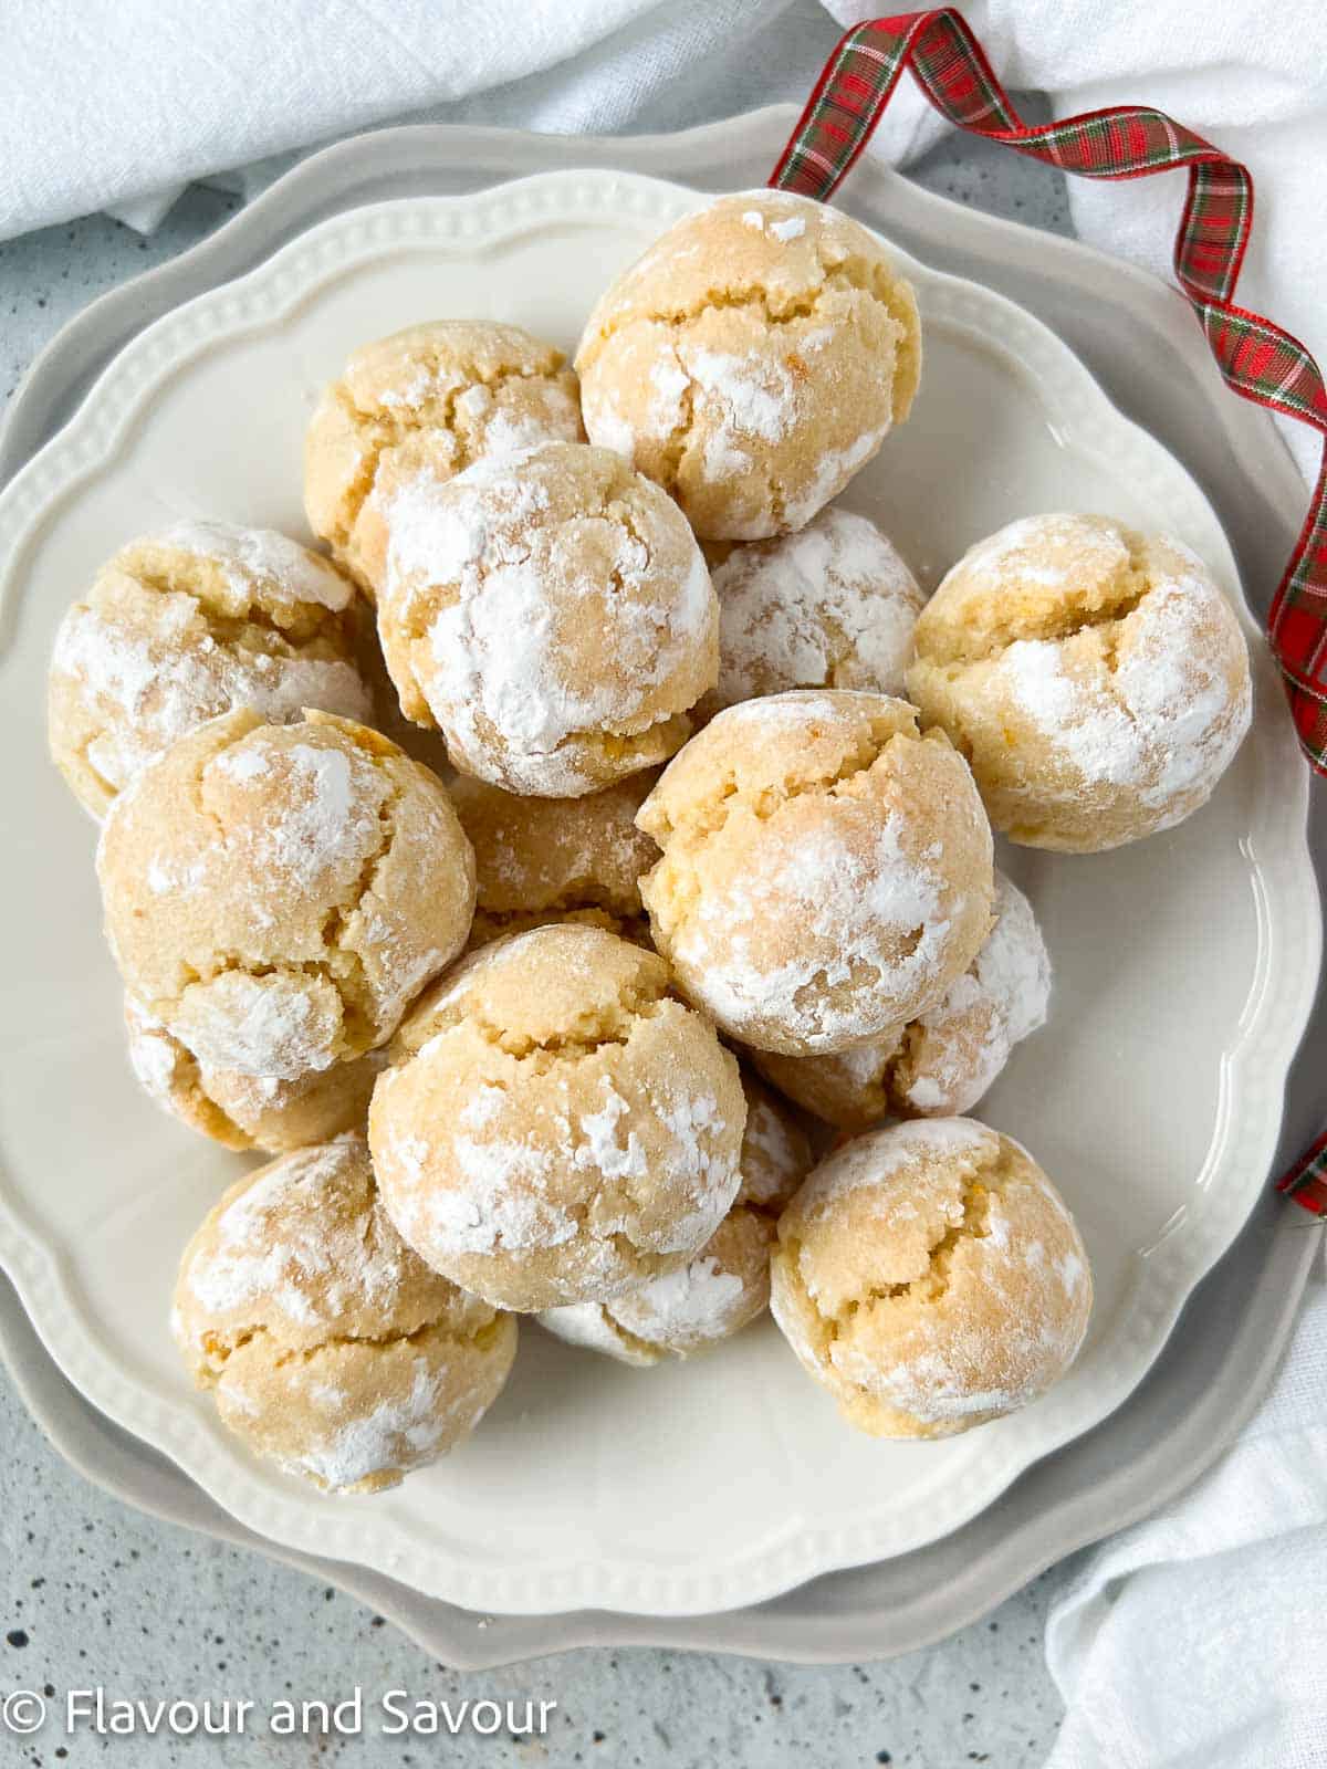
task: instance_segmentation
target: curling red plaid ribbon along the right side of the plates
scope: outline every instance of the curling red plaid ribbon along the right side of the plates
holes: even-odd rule
[[[1327,775],[1327,391],[1304,345],[1272,320],[1235,306],[1253,226],[1253,179],[1193,129],[1143,104],[1065,117],[1030,129],[954,7],[855,25],[825,64],[770,184],[828,202],[871,140],[899,76],[911,69],[927,99],[959,129],[1003,142],[1085,179],[1147,179],[1189,170],[1175,239],[1175,276],[1207,334],[1226,386],[1323,435],[1309,513],[1272,598],[1267,637],[1304,752]],[[1277,1191],[1327,1215],[1327,1132]]]

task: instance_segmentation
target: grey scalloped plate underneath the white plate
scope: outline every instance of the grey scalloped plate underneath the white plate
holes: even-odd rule
[[[12,472],[58,428],[88,379],[145,320],[251,267],[310,221],[382,196],[476,188],[568,161],[658,172],[702,188],[752,184],[791,120],[791,110],[766,111],[687,136],[605,143],[402,129],[333,149],[219,235],[104,297],[65,329],[14,402],[0,472]],[[458,165],[464,173],[449,170]],[[1040,313],[1116,403],[1203,479],[1254,601],[1260,586],[1270,587],[1299,520],[1302,486],[1262,414],[1223,393],[1177,297],[1081,246],[954,209],[871,166],[856,175],[848,207],[931,264],[986,281]],[[1292,1129],[1308,1127],[1292,1114]],[[603,1613],[481,1622],[373,1574],[287,1558],[334,1578],[433,1652],[464,1665],[584,1642],[649,1640],[787,1658],[906,1650],[961,1626],[1040,1566],[1193,1479],[1272,1367],[1313,1244],[1311,1235],[1293,1233],[1299,1226],[1269,1199],[1191,1302],[1154,1375],[1109,1426],[1040,1463],[971,1525],[918,1553],[819,1580],[754,1610],[678,1622]],[[0,1311],[0,1332],[34,1412],[71,1459],[145,1509],[272,1551],[175,1468],[106,1426],[48,1364],[12,1297]]]

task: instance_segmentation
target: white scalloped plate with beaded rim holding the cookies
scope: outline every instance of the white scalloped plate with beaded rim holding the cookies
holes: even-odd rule
[[[356,343],[479,313],[570,347],[607,278],[695,202],[559,172],[331,219],[127,345],[0,495],[0,1258],[69,1378],[242,1523],[476,1610],[748,1604],[945,1535],[1104,1419],[1265,1182],[1318,969],[1308,771],[1210,506],[1040,322],[899,255],[927,331],[922,394],[846,502],[927,582],[1032,509],[1164,525],[1214,564],[1253,640],[1254,729],[1203,812],[1115,854],[1005,856],[1058,985],[1051,1028],[984,1116],[1033,1148],[1083,1226],[1097,1309],[1076,1369],[1014,1419],[897,1445],[842,1428],[768,1323],[649,1373],[527,1329],[478,1436],[373,1500],[324,1498],[219,1428],[166,1311],[184,1240],[242,1162],[159,1116],[129,1077],[94,830],[44,754],[51,635],[96,564],[166,517],[304,532],[303,426]]]

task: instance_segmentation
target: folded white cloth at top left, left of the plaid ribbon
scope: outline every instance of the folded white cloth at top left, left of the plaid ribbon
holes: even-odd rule
[[[800,97],[833,37],[816,0],[5,0],[0,239],[150,228],[191,179],[384,120],[687,127]]]

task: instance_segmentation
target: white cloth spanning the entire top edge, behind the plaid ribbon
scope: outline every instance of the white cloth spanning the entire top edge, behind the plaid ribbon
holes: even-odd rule
[[[839,25],[886,11],[828,0]],[[1244,304],[1327,357],[1322,0],[966,0],[964,14],[1005,83],[1049,92],[1056,115],[1147,99],[1247,161]],[[5,0],[0,239],[96,209],[150,228],[191,179],[407,115],[685,127],[805,96],[832,41],[814,0]],[[941,127],[904,81],[874,150],[904,161]],[[1078,232],[1164,276],[1184,182],[1070,180]],[[1283,428],[1316,474],[1309,433]]]

